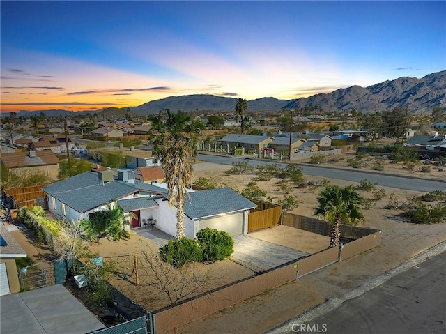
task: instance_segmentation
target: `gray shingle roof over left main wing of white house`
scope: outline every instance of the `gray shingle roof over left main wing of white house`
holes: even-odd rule
[[[98,173],[95,172],[72,176],[47,185],[42,190],[80,213],[137,192],[133,185],[118,181],[100,185]]]

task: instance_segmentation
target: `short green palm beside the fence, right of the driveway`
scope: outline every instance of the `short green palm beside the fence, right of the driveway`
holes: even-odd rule
[[[360,212],[360,195],[353,185],[340,188],[338,185],[328,185],[318,196],[318,206],[314,215],[323,216],[332,225],[329,248],[339,245],[341,223],[356,225],[364,220]]]

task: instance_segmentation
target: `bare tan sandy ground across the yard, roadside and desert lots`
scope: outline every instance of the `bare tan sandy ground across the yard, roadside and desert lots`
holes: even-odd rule
[[[343,165],[342,162],[337,164]],[[393,167],[387,167],[385,172],[401,174],[401,170],[392,171]],[[194,168],[194,180],[203,176],[218,185],[227,185],[233,189],[242,190],[255,177],[252,174],[226,176],[224,171],[228,168],[229,166],[214,165],[208,162],[197,163]],[[408,172],[408,174],[413,174],[413,172]],[[442,171],[436,169],[429,175],[421,172],[419,174],[424,177],[444,177]],[[323,179],[313,176],[305,177],[306,181],[321,181]],[[257,183],[260,188],[268,192],[267,196],[270,196],[273,202],[286,195],[285,192],[278,189],[275,184],[277,181],[279,179]],[[351,184],[348,181],[328,181],[330,181],[330,184],[337,185]],[[316,197],[321,189],[293,188],[289,195],[298,197],[300,203],[298,208],[294,208],[291,212],[311,216],[316,206]],[[406,202],[409,197],[421,195],[422,192],[392,188],[384,188],[384,190],[386,196],[376,202],[376,205],[371,209],[363,211],[366,219],[360,225],[381,229],[383,231],[382,245],[347,259],[340,264],[334,264],[307,275],[296,282],[266,291],[264,294],[177,328],[176,333],[264,333],[279,326],[284,321],[302,314],[305,310],[314,308],[328,298],[339,298],[346,291],[360,286],[365,280],[374,278],[376,275],[402,264],[410,257],[414,257],[446,240],[446,224],[413,225],[401,220],[398,217],[399,211],[383,208],[390,201],[390,198],[401,204]],[[371,197],[371,192],[360,193],[365,197]],[[14,233],[21,234],[20,231]],[[317,252],[328,246],[328,238],[283,226],[256,231],[249,236],[309,253]],[[19,239],[22,245],[27,243],[27,238],[23,234],[22,237],[19,236]],[[297,239],[299,240],[298,244],[295,243]],[[37,245],[36,247],[31,243],[26,247],[28,247],[26,252],[29,252],[31,257],[40,261],[46,257],[46,250],[40,246]],[[130,276],[132,273],[134,254],[138,254],[139,276],[142,282],[148,282],[151,269],[144,264],[144,252],[153,252],[156,249],[157,246],[151,241],[134,233],[128,241],[111,242],[102,239],[100,243],[95,243],[92,246],[92,250],[98,255],[108,257],[116,262],[117,271],[120,273],[113,280],[116,287],[151,310],[166,305],[165,296],[157,293],[148,284],[145,287],[136,287],[134,285],[134,275],[130,278],[125,278],[125,275]],[[206,289],[249,277],[253,273],[248,268],[229,259],[212,265],[199,264],[197,265],[197,272],[199,272],[201,278],[208,279],[208,283],[203,284],[203,288]],[[164,274],[169,275],[168,272]]]

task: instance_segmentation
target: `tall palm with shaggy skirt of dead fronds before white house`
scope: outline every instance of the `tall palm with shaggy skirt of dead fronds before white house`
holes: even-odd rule
[[[165,112],[166,120],[162,113],[149,117],[152,129],[158,132],[152,139],[155,144],[153,155],[160,158],[164,169],[169,206],[176,204],[176,238],[180,239],[185,237],[183,206],[187,185],[192,181],[192,164],[197,157],[193,142],[206,126],[180,110],[177,114],[172,114],[169,109]]]

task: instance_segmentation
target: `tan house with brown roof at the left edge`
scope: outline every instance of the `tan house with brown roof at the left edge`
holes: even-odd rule
[[[59,158],[49,150],[2,153],[0,160],[10,173],[19,176],[40,172],[55,179],[59,174]]]

